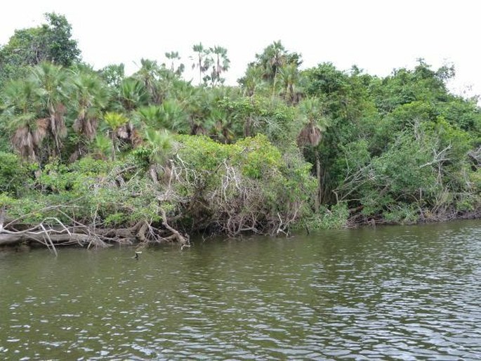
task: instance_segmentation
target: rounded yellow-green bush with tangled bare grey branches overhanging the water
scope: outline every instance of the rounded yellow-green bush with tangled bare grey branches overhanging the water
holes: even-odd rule
[[[189,168],[187,182],[178,191],[202,199],[197,205],[205,204],[202,212],[211,215],[210,222],[218,218],[224,224],[231,215],[232,225],[238,225],[234,219],[251,219],[251,227],[256,227],[278,222],[279,217],[292,222],[310,212],[315,180],[295,148],[283,157],[262,135],[234,145],[199,136],[180,136],[178,141],[176,164]]]

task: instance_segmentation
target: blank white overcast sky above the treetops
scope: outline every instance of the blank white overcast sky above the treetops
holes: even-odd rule
[[[55,12],[95,69],[124,63],[134,72],[141,58],[163,63],[169,51],[190,69],[192,45],[202,42],[228,49],[226,79],[235,84],[256,53],[280,40],[302,54],[303,68],[331,62],[385,77],[418,58],[434,69],[454,65],[449,87],[474,96],[481,95],[480,11],[477,0],[14,0],[0,12],[0,44]]]

